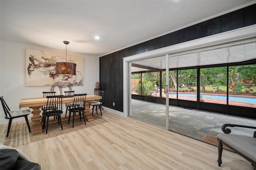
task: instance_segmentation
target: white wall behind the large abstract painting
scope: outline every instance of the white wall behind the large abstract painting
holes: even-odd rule
[[[50,86],[26,87],[26,49],[66,53],[66,51],[58,49],[6,41],[0,42],[0,96],[4,96],[4,100],[11,110],[19,110],[20,99],[42,97],[42,91],[50,90]],[[84,85],[73,86],[72,90],[75,93],[94,94],[95,83],[99,81],[100,74],[99,57],[71,51],[68,51],[68,53],[84,57]],[[9,87],[3,87],[3,83],[9,83]],[[56,94],[60,93],[58,88],[55,88],[55,91]],[[30,110],[32,111],[32,109]],[[32,117],[32,114],[30,117]],[[23,120],[24,118],[18,118],[16,121]],[[1,105],[0,124],[4,123],[8,123],[8,120],[4,119],[4,111]]]

